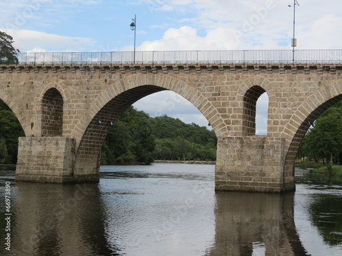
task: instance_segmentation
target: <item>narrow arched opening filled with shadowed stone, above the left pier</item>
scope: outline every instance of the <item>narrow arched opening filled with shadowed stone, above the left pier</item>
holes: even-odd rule
[[[60,137],[63,133],[63,104],[60,91],[47,90],[42,98],[42,136]]]

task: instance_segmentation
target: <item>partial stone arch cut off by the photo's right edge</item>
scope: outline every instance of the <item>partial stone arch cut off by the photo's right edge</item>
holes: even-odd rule
[[[342,100],[341,82],[326,85],[321,91],[308,97],[292,115],[284,129],[285,137],[285,183],[293,182],[295,156],[302,139],[315,119],[330,106]]]

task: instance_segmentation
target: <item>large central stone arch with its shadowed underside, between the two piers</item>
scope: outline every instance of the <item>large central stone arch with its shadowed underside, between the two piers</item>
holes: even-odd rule
[[[89,173],[98,175],[99,153],[111,122],[137,100],[163,90],[174,91],[192,102],[211,123],[216,136],[226,133],[226,125],[218,111],[193,87],[171,76],[130,76],[103,91],[77,124],[74,134],[77,138],[74,173],[77,180],[83,179],[83,173],[87,173],[87,177],[90,177]]]

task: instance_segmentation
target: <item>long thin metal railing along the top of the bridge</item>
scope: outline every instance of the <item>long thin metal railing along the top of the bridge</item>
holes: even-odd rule
[[[134,59],[134,61],[133,61]],[[342,50],[237,50],[19,53],[19,64],[341,64]]]

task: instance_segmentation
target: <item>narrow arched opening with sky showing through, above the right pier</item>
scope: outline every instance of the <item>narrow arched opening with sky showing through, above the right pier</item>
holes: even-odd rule
[[[267,103],[267,104],[265,104]],[[254,85],[244,96],[243,134],[244,136],[267,134],[268,95],[265,89]],[[256,125],[258,121],[258,127]],[[259,126],[259,124],[261,124]],[[257,130],[258,128],[258,130]]]

